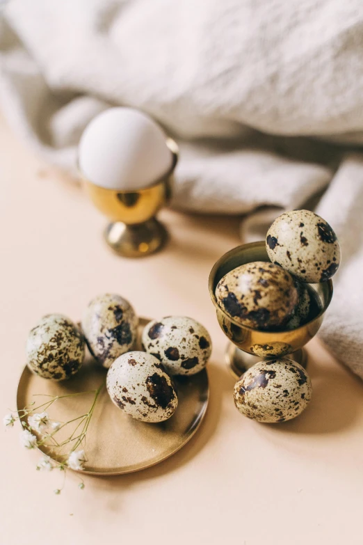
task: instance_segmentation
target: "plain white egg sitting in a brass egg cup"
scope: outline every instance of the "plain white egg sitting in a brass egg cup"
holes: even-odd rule
[[[79,142],[82,175],[106,189],[143,189],[160,180],[171,167],[166,134],[145,113],[131,108],[99,113]]]

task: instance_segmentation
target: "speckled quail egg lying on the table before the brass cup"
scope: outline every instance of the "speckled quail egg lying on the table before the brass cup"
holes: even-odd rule
[[[305,369],[289,358],[255,363],[234,385],[234,403],[244,416],[258,422],[295,418],[312,397]]]

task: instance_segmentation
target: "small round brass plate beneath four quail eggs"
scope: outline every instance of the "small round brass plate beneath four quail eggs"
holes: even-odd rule
[[[149,322],[140,318],[139,339]],[[139,340],[135,349],[140,349]],[[79,373],[69,381],[45,380],[24,368],[17,388],[17,409],[34,400],[47,400],[34,394],[51,396],[95,390],[106,377],[106,370],[88,359]],[[85,445],[88,461],[82,473],[92,475],[121,475],[140,471],[173,455],[195,434],[207,410],[209,398],[208,375],[204,370],[194,377],[175,377],[179,404],[175,414],[166,422],[147,424],[125,415],[108,397],[106,388],[97,400]],[[48,412],[52,420],[66,422],[88,412],[93,394],[57,400]],[[40,409],[41,410],[41,409]],[[61,434],[61,432],[59,432]],[[42,452],[48,454],[42,447]]]

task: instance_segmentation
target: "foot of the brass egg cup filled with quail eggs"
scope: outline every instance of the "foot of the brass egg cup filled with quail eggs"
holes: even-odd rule
[[[307,351],[304,348],[300,348],[295,352],[292,352],[292,354],[287,354],[286,356],[276,356],[276,358],[279,357],[291,358],[293,361],[300,363],[300,365],[302,365],[302,367],[306,369]],[[263,358],[261,356],[248,354],[248,352],[244,352],[243,350],[234,346],[232,342],[228,343],[227,349],[225,351],[225,363],[227,363],[227,367],[229,368],[229,371],[232,373],[232,376],[235,379],[239,379],[239,377],[241,377],[243,373],[250,369],[252,365],[255,365],[255,363],[264,359],[273,358]]]

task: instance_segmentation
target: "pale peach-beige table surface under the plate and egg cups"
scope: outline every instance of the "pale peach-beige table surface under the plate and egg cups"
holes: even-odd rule
[[[118,292],[140,315],[191,315],[214,343],[211,401],[200,431],[168,461],[133,475],[35,471],[38,453],[1,431],[1,545],[363,543],[362,383],[313,340],[314,398],[298,419],[259,425],[234,408],[226,339],[207,278],[239,244],[238,219],[163,212],[172,242],[124,260],[102,242],[104,218],[0,122],[1,408],[15,405],[27,332],[46,313],[77,319],[89,299]],[[363,333],[362,333],[363,334]]]

